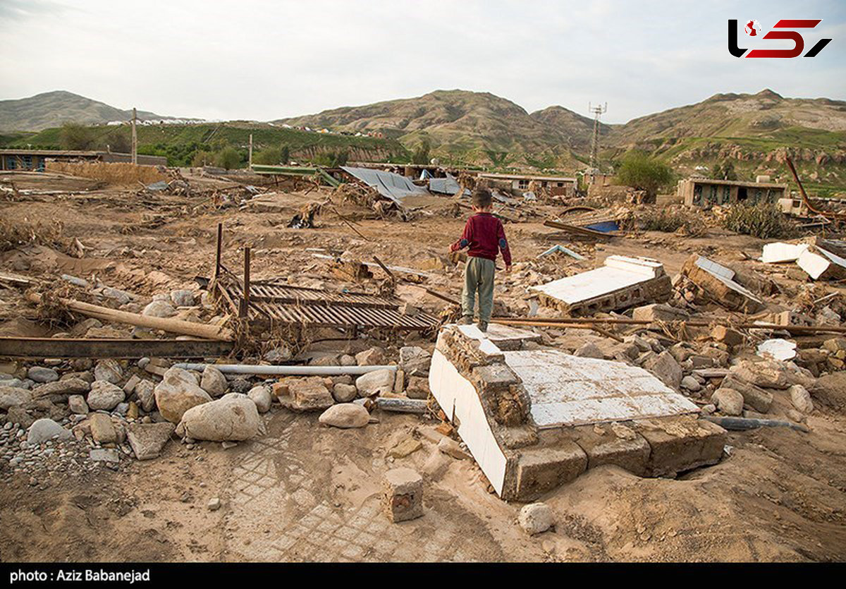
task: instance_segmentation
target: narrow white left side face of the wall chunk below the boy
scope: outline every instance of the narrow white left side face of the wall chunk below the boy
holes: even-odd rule
[[[431,355],[429,390],[458,432],[498,495],[503,494],[506,459],[482,409],[473,383],[462,377],[440,350]]]

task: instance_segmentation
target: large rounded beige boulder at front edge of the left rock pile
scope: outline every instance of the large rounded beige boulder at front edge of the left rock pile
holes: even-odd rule
[[[179,435],[212,442],[239,442],[254,438],[261,427],[255,403],[245,394],[229,393],[184,412]]]

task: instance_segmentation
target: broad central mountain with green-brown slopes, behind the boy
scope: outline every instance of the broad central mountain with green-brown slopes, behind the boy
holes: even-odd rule
[[[545,162],[573,162],[572,151],[590,143],[593,124],[563,107],[529,114],[500,96],[463,90],[438,90],[273,122],[311,129],[379,131],[412,148],[428,140],[436,153],[470,162],[484,162],[491,157],[488,152],[497,152],[508,153],[515,163],[523,162],[526,155]]]

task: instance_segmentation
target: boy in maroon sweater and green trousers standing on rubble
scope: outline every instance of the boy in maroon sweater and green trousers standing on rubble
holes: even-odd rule
[[[467,266],[464,268],[464,292],[461,299],[461,310],[464,314],[461,322],[465,325],[473,322],[475,296],[479,294],[479,329],[487,331],[487,322],[491,321],[493,309],[493,272],[496,270],[494,261],[497,259],[497,248],[503,252],[505,272],[511,272],[511,251],[505,240],[503,223],[491,214],[491,191],[485,188],[473,192],[472,217],[464,225],[461,239],[450,246],[450,251],[463,250],[467,252]]]

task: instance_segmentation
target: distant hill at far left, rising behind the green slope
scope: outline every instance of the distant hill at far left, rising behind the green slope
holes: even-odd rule
[[[72,122],[80,124],[105,124],[132,118],[132,109],[121,110],[85,98],[72,92],[52,91],[19,100],[0,100],[0,130],[40,131]],[[138,111],[142,120],[162,117],[155,113]]]

